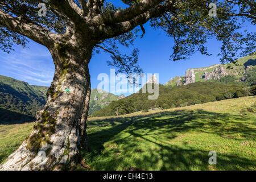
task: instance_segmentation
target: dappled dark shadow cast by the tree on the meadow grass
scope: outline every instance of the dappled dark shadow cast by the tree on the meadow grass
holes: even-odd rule
[[[251,116],[212,113],[204,110],[167,111],[144,117],[89,122],[91,152],[87,161],[94,169],[208,170],[208,152],[168,143],[180,134],[205,133],[235,140],[254,140]],[[237,137],[237,134],[241,138]],[[256,169],[256,160],[218,154],[218,169]],[[212,167],[214,169],[214,167]]]

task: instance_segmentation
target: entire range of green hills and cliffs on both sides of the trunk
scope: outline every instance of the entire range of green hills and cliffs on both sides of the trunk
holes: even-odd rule
[[[256,56],[246,56],[232,64],[189,70],[185,76],[177,76],[167,84],[159,85],[157,100],[148,100],[148,94],[132,94],[118,100],[119,97],[114,94],[92,89],[89,115],[109,116],[169,109],[255,94]],[[0,76],[0,123],[34,121],[36,111],[46,103],[47,90],[46,86],[33,86]]]

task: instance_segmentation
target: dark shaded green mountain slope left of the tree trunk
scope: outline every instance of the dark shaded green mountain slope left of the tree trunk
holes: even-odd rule
[[[0,76],[0,123],[34,120],[36,111],[46,104],[47,89]]]

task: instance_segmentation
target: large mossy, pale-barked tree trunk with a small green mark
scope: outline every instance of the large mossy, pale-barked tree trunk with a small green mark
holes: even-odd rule
[[[50,52],[55,76],[47,104],[38,111],[32,133],[9,156],[2,170],[69,169],[79,162],[79,151],[86,147],[92,48],[75,50],[55,44]]]

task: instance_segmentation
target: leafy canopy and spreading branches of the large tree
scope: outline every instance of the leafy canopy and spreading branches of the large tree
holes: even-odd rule
[[[139,50],[126,55],[118,51],[118,46],[129,47],[139,34],[143,36],[143,24],[150,21],[153,28],[161,28],[174,38],[172,60],[187,59],[197,51],[210,55],[205,43],[211,38],[222,43],[223,62],[255,52],[255,32],[242,29],[244,23],[256,23],[254,0],[122,2],[128,7],[115,7],[112,1],[104,0],[3,0],[0,48],[9,52],[14,43],[24,47],[27,38],[49,47],[52,41],[68,40],[69,34],[78,32],[81,34],[78,38],[86,44],[85,34],[90,32],[94,51],[110,53],[113,61],[109,64],[119,67],[119,72],[141,72],[136,65]],[[38,15],[39,3],[46,5],[46,16]],[[215,3],[217,16],[209,15],[210,3]]]

